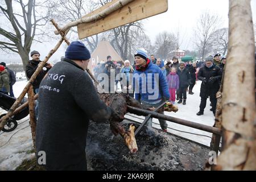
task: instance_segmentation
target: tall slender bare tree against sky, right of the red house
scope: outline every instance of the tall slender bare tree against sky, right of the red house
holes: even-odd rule
[[[195,29],[195,44],[197,49],[201,52],[201,57],[204,60],[204,56],[207,55],[212,46],[210,38],[213,32],[216,31],[220,24],[220,18],[217,15],[211,15],[208,11],[200,15],[197,21],[197,27]]]

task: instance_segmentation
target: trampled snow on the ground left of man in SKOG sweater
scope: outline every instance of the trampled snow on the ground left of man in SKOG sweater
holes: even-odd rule
[[[18,97],[27,81],[17,81],[14,85],[14,96]],[[6,111],[0,108],[0,115]],[[20,119],[18,127],[10,133],[0,131],[0,170],[15,170],[23,160],[31,159],[31,128],[29,116]]]

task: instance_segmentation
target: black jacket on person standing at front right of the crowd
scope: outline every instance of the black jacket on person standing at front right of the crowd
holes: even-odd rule
[[[219,82],[222,77],[221,69],[216,64],[213,64],[210,68],[204,65],[204,67],[199,69],[197,77],[202,81],[205,79],[201,84],[200,97],[208,98],[210,96],[211,98],[216,98],[216,93],[220,88]],[[210,77],[213,77],[212,82],[209,82]]]

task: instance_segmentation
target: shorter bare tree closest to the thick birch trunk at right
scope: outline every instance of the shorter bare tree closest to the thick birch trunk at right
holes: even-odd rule
[[[210,42],[214,52],[222,52],[222,55],[226,55],[226,51],[228,51],[228,28],[214,31]]]

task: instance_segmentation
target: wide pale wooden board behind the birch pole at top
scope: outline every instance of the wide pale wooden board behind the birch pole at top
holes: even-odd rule
[[[114,0],[86,16],[97,14],[117,1],[118,0]],[[158,15],[166,12],[167,10],[168,0],[136,0],[127,4],[122,9],[114,11],[105,18],[97,20],[96,22],[79,24],[77,26],[79,39],[99,34],[100,32],[104,32],[127,23],[136,22],[150,16]]]

